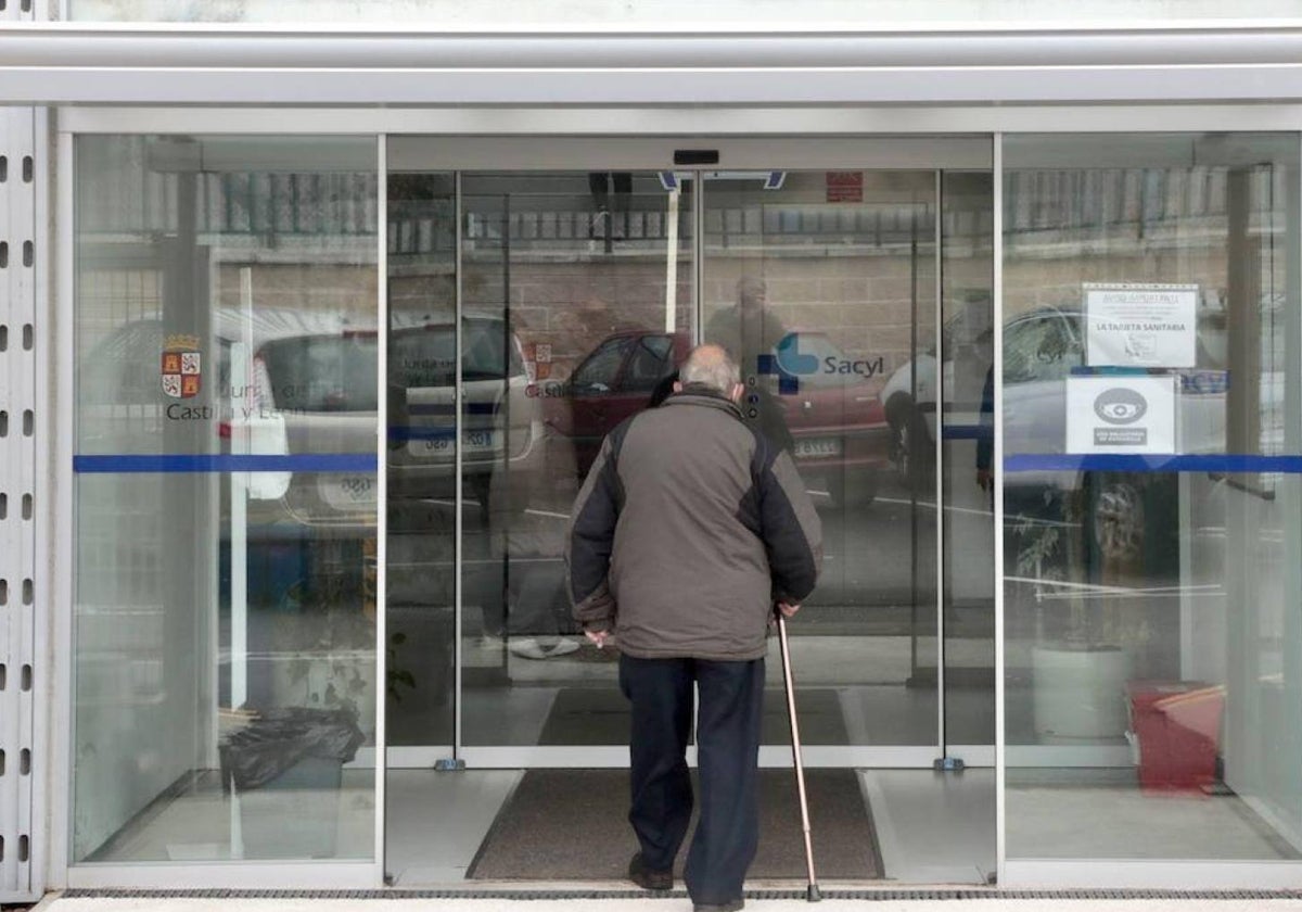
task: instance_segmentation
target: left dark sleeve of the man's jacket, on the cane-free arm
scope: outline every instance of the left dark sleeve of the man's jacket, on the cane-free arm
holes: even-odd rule
[[[622,431],[621,429],[617,429]],[[587,631],[608,631],[615,625],[616,605],[611,593],[611,551],[620,519],[622,490],[616,474],[617,443],[612,431],[579,489],[570,513],[565,541],[566,586],[574,619]]]

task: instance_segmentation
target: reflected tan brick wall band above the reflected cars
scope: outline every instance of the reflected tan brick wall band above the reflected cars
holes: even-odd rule
[[[820,248],[822,250],[822,248]],[[1169,249],[1126,254],[1104,251],[1048,257],[1009,251],[1004,267],[1005,318],[1039,306],[1078,304],[1083,281],[1144,281],[1155,275],[1180,276],[1204,288],[1224,287],[1228,264],[1224,249]],[[950,302],[965,292],[988,288],[990,264],[983,255],[945,262],[945,289]],[[767,287],[768,307],[790,330],[812,330],[828,336],[852,358],[883,357],[887,374],[910,358],[917,283],[918,341],[931,344],[935,331],[935,292],[930,257],[919,257],[914,278],[907,251],[872,255],[793,257],[758,259],[712,255],[703,288],[708,322],[717,309],[730,306],[738,278],[759,275]],[[678,267],[674,323],[691,326],[693,263]],[[310,281],[305,281],[310,279]],[[564,379],[602,339],[621,328],[664,326],[665,267],[660,257],[579,255],[569,261],[517,255],[510,274],[510,315],[525,343],[552,347],[552,377]],[[217,300],[238,304],[238,271],[219,272]],[[254,272],[255,301],[262,306],[305,310],[366,310],[375,300],[372,267],[310,270],[292,264],[262,264]],[[395,311],[430,314],[448,319],[454,301],[452,278],[395,275],[389,279],[389,306]],[[465,276],[467,311],[501,314],[501,264],[471,262]]]

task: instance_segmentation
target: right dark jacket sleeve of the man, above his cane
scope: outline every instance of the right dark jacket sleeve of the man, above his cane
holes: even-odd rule
[[[799,603],[814,591],[823,568],[823,526],[790,455],[772,447],[763,449],[767,452],[760,456],[756,485],[773,597]]]

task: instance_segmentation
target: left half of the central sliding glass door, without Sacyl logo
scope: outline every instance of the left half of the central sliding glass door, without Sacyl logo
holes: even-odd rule
[[[654,172],[389,186],[391,744],[621,765],[617,659],[570,620],[565,526],[605,433],[691,345],[690,186]]]

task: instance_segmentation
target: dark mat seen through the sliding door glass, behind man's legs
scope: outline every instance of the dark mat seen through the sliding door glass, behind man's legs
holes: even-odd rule
[[[845,715],[832,688],[796,692],[796,713],[801,723],[801,744],[846,744]],[[760,730],[764,744],[790,744],[786,720],[786,692],[764,692],[764,718]],[[629,743],[629,701],[613,684],[594,688],[566,687],[556,693],[539,744],[616,744]]]

